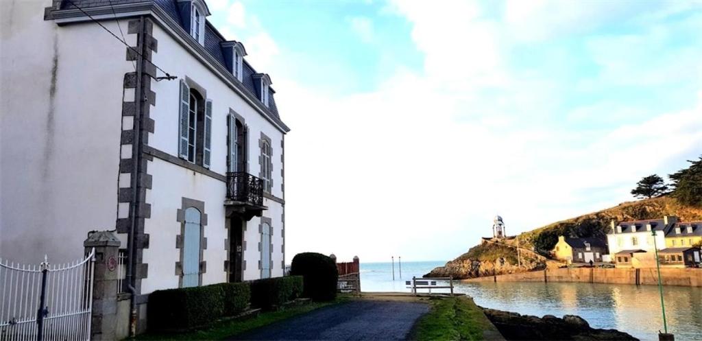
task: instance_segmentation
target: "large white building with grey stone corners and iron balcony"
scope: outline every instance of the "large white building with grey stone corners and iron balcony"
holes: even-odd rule
[[[0,257],[77,259],[114,229],[138,304],[283,275],[289,128],[203,0],[4,7]]]

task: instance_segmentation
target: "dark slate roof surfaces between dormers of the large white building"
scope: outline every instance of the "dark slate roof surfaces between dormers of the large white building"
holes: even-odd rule
[[[157,6],[161,7],[167,14],[170,16],[175,22],[177,22],[183,30],[185,30],[185,26],[183,25],[183,17],[180,13],[180,10],[178,9],[178,0],[54,0],[54,1],[59,1],[58,2],[58,7],[54,6],[53,8],[60,8],[60,9],[74,9],[76,6],[80,8],[92,8],[92,7],[101,7],[101,6],[115,6],[115,5],[121,5],[121,4],[138,4],[138,3],[148,3],[152,2],[154,4],[157,4]],[[75,6],[74,6],[75,4]],[[222,43],[227,41],[222,34],[209,22],[209,20],[206,20],[206,25],[205,25],[205,38],[204,38],[204,48],[205,50],[213,57],[215,58],[223,67],[227,68],[227,62],[225,62],[224,59],[224,53],[222,51]],[[243,69],[243,76],[242,77],[242,83],[244,84],[244,87],[246,89],[249,89],[251,93],[254,95],[254,97],[259,98],[259,91],[258,91],[258,86],[256,85],[256,82],[254,82],[253,75],[255,75],[257,72],[256,70],[251,67],[251,65],[246,61],[246,58],[244,58],[244,64],[242,65]],[[227,68],[228,70],[228,68]],[[278,114],[278,108],[277,105],[275,105],[275,98],[274,94],[275,91],[273,90],[272,87],[269,87],[270,89],[270,94],[268,96],[268,101],[269,105],[268,108],[270,111],[280,119],[280,115]],[[259,98],[260,100],[260,98]]]

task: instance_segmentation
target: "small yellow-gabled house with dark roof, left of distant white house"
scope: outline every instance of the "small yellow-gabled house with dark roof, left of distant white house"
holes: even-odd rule
[[[602,262],[607,255],[607,243],[599,238],[565,238],[558,237],[552,255],[556,259],[574,263]]]

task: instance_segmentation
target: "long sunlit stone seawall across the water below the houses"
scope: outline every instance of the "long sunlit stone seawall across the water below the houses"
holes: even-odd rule
[[[657,285],[656,269],[562,268],[465,279],[466,282],[583,282]],[[661,269],[663,285],[702,287],[702,269]]]

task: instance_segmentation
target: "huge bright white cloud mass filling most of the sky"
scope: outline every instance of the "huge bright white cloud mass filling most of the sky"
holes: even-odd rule
[[[324,75],[286,77],[304,51],[284,51],[253,15],[239,20],[249,24],[241,38],[247,58],[271,73],[277,105],[293,129],[286,136],[289,255],[449,259],[488,234],[496,213],[517,233],[616,205],[628,199],[623,184],[665,172],[670,157],[702,146],[702,99],[651,119],[638,118],[634,106],[599,101],[555,116],[562,88],[571,84],[538,68],[515,68],[513,45],[600,24],[588,23],[595,9],[536,5],[505,9],[510,24],[502,25],[479,3],[393,1],[392,11],[413,27],[424,67],[398,67],[367,93],[330,94],[327,82],[344,79]],[[559,14],[565,19],[550,18]],[[362,39],[373,37],[369,18],[350,25]],[[617,47],[592,46],[602,53]],[[603,63],[624,60],[600,56]],[[611,72],[621,73],[602,82],[637,70],[617,65]],[[608,115],[628,124],[585,131],[558,123],[606,122]]]

